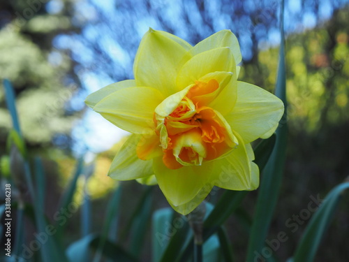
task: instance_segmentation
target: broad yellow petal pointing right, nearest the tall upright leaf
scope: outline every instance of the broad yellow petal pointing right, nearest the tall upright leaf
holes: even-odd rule
[[[237,102],[225,119],[244,143],[274,133],[283,115],[283,102],[265,89],[237,82]]]

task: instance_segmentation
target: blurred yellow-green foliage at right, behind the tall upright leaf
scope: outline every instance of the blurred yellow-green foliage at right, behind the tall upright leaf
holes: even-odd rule
[[[349,8],[343,8],[325,24],[287,38],[288,124],[293,133],[319,133],[349,120],[348,13]],[[243,67],[243,80],[271,91],[277,57],[276,48],[259,52],[258,63]]]

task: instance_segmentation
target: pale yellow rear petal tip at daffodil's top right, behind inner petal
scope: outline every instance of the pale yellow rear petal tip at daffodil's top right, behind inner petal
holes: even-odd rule
[[[195,45],[191,50],[192,55],[199,54],[200,52],[205,52],[214,48],[230,48],[235,64],[239,64],[242,61],[242,55],[240,52],[239,42],[235,34],[232,34],[230,30],[221,30],[216,34],[209,36],[208,38],[202,40],[200,43]]]

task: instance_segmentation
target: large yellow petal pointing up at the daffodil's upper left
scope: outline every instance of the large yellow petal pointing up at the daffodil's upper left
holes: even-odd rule
[[[140,42],[133,64],[137,85],[154,87],[165,96],[176,92],[178,70],[191,57],[185,41],[169,35],[149,29]]]

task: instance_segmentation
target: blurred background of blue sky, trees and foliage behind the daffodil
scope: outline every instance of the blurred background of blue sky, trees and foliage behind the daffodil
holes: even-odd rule
[[[240,80],[272,92],[281,41],[278,17],[279,1],[270,0],[1,0],[0,79],[15,88],[29,156],[43,159],[50,192],[47,216],[52,219],[76,159],[82,157],[90,169],[78,186],[91,198],[90,230],[101,231],[106,203],[119,187],[107,170],[127,133],[87,108],[84,99],[105,85],[133,78],[135,52],[149,27],[192,45],[230,29],[242,50]],[[285,221],[307,208],[311,196],[325,196],[349,175],[348,17],[348,0],[285,1],[288,159],[270,238],[290,231]],[[11,127],[1,87],[2,159]],[[3,171],[6,164],[1,163]],[[137,182],[123,184],[121,225],[145,191]],[[153,209],[167,206],[159,189],[153,191],[158,196]],[[248,195],[241,214],[251,217],[255,196]],[[79,202],[81,196],[75,197]],[[80,234],[79,217],[76,212],[68,219],[66,245]],[[240,220],[232,217],[227,227],[235,252],[244,259],[248,236]],[[348,221],[348,209],[339,209],[315,261],[348,259]],[[282,261],[294,251],[306,223],[277,250]],[[25,225],[30,230],[30,222]],[[141,251],[144,261],[151,256],[149,245]]]

